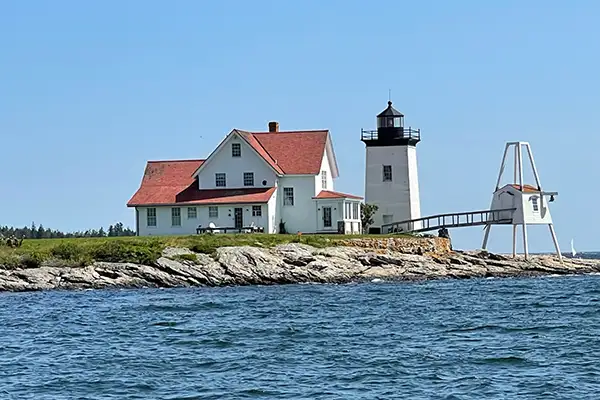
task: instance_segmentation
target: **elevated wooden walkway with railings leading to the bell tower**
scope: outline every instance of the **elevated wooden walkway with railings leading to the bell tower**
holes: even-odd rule
[[[417,233],[441,228],[512,224],[516,208],[438,214],[429,217],[392,222],[381,226],[381,233]]]

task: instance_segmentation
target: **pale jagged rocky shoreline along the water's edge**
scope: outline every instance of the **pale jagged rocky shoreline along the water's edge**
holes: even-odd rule
[[[94,262],[84,267],[42,265],[3,269],[0,291],[101,288],[273,285],[519,277],[600,272],[599,260],[522,257],[487,252],[407,252],[363,246],[315,248],[289,243],[273,248],[222,247],[216,254],[166,248],[152,265]]]

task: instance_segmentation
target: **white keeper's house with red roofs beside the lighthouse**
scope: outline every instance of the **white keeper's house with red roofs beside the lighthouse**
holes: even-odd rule
[[[339,175],[327,130],[232,130],[205,160],[149,161],[135,208],[140,236],[197,228],[265,233],[360,233],[362,198],[334,191]]]

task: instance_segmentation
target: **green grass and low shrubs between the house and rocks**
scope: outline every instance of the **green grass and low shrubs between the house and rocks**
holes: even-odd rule
[[[0,266],[36,268],[49,260],[61,265],[83,266],[93,261],[151,264],[165,247],[183,247],[196,253],[214,254],[219,247],[273,247],[285,243],[304,243],[314,247],[334,246],[342,240],[385,235],[281,235],[281,234],[204,234],[191,236],[25,239],[18,248],[0,246]],[[397,237],[397,236],[396,236]]]

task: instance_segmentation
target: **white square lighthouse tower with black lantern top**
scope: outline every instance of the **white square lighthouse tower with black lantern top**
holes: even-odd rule
[[[361,130],[361,140],[367,152],[365,203],[378,206],[369,233],[380,233],[383,224],[421,218],[416,148],[421,131],[405,128],[404,115],[388,101],[377,116],[377,130]]]

